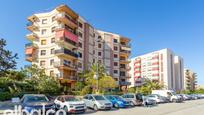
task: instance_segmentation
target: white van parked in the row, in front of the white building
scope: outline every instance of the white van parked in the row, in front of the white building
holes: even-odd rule
[[[158,94],[169,99],[170,102],[182,102],[182,97],[176,95],[173,90],[152,90],[152,94]]]

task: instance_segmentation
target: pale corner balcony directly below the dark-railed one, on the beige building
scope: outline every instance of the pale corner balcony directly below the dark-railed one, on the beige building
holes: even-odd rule
[[[71,70],[71,71],[76,71],[77,70],[76,65],[67,63],[65,61],[54,62],[54,67],[56,67],[58,69],[62,69],[62,70]]]

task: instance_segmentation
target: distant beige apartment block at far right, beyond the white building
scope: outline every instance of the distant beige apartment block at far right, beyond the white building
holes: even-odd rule
[[[184,89],[195,90],[197,86],[197,74],[190,69],[184,69]]]

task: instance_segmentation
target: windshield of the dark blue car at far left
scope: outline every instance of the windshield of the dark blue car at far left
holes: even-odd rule
[[[28,96],[24,102],[47,102],[48,99],[45,96]]]

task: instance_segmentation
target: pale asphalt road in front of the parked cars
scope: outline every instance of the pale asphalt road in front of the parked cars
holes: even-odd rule
[[[159,104],[154,107],[134,107],[98,112],[88,110],[85,115],[204,115],[204,99]]]

